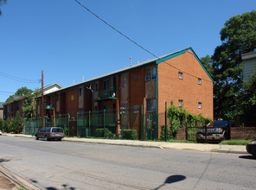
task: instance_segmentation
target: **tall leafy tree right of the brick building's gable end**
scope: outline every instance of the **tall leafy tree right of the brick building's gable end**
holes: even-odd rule
[[[214,117],[235,119],[242,87],[241,54],[256,48],[256,11],[231,17],[221,28],[221,46],[214,50]]]

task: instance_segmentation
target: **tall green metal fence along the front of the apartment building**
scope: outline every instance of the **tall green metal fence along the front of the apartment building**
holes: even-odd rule
[[[75,114],[74,114],[75,116]],[[136,130],[139,140],[154,140],[161,131],[162,126],[170,125],[166,114],[156,115],[155,111],[143,111],[143,106],[133,106],[132,109],[121,108],[116,111],[86,111],[78,112],[76,117],[69,114],[59,114],[55,118],[44,117],[44,127],[61,127],[66,136],[97,137],[98,129],[111,131],[111,138],[123,138],[124,130]],[[170,127],[170,126],[169,126]],[[28,135],[35,135],[35,132],[42,128],[42,118],[26,120],[24,132]],[[106,134],[104,135],[106,137]],[[165,140],[168,140],[167,138]]]

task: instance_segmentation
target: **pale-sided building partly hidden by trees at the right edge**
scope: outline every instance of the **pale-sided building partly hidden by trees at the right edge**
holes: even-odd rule
[[[248,80],[256,69],[256,51],[241,54],[243,61],[243,79]]]

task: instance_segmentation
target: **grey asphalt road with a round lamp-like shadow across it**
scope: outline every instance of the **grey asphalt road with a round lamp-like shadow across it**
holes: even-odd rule
[[[0,136],[0,164],[50,190],[256,189],[250,155]]]

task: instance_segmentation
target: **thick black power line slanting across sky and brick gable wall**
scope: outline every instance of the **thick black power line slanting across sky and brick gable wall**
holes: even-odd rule
[[[165,60],[159,58],[156,54],[151,53],[149,50],[147,50],[147,49],[144,48],[143,46],[139,45],[138,42],[131,40],[130,37],[128,37],[127,35],[125,35],[125,34],[123,34],[122,32],[120,32],[117,28],[114,28],[111,24],[109,24],[108,22],[106,22],[105,20],[103,20],[102,18],[100,18],[98,15],[96,15],[92,10],[86,8],[86,6],[85,6],[84,4],[82,4],[82,3],[80,3],[78,0],[74,0],[74,1],[75,1],[76,3],[79,3],[81,7],[83,7],[84,9],[86,9],[86,10],[87,10],[89,13],[91,13],[93,16],[97,17],[101,22],[104,22],[107,26],[109,26],[110,28],[112,28],[113,30],[115,30],[116,32],[118,32],[119,35],[123,35],[127,40],[131,41],[132,43],[134,43],[135,45],[137,45],[139,48],[142,48],[145,52],[147,52],[148,54],[151,54],[152,56],[154,56],[155,58],[157,58],[157,60],[162,60],[165,64],[167,64],[167,65],[169,65],[169,66],[175,68],[175,69],[178,70],[178,71],[181,71],[182,73],[186,73],[186,74],[188,74],[188,75],[190,75],[190,76],[192,76],[192,77],[195,77],[195,78],[197,78],[197,79],[199,78],[199,77],[197,77],[197,76],[195,76],[195,75],[193,75],[193,74],[191,74],[191,73],[187,73],[187,72],[182,71],[181,69],[177,68],[176,66],[172,66],[170,63],[167,63]],[[210,80],[208,80],[208,79],[204,79],[204,80],[206,80],[206,81],[208,81],[208,82],[212,82],[212,81],[210,81]]]

